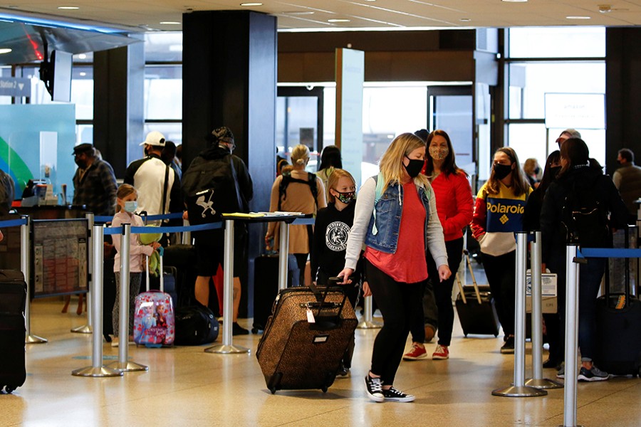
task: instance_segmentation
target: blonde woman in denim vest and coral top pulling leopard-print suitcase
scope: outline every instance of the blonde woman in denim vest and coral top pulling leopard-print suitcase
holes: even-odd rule
[[[365,243],[363,294],[373,295],[385,318],[374,342],[372,364],[365,376],[372,401],[410,402],[415,396],[394,388],[410,320],[422,310],[422,285],[427,280],[425,253],[438,265],[440,280],[452,274],[447,265],[443,228],[434,191],[420,174],[425,143],[414,134],[397,136],[380,159],[380,173],[360,189],[354,224],[348,238],[345,268],[339,273],[350,282]],[[370,292],[371,290],[371,292]]]

